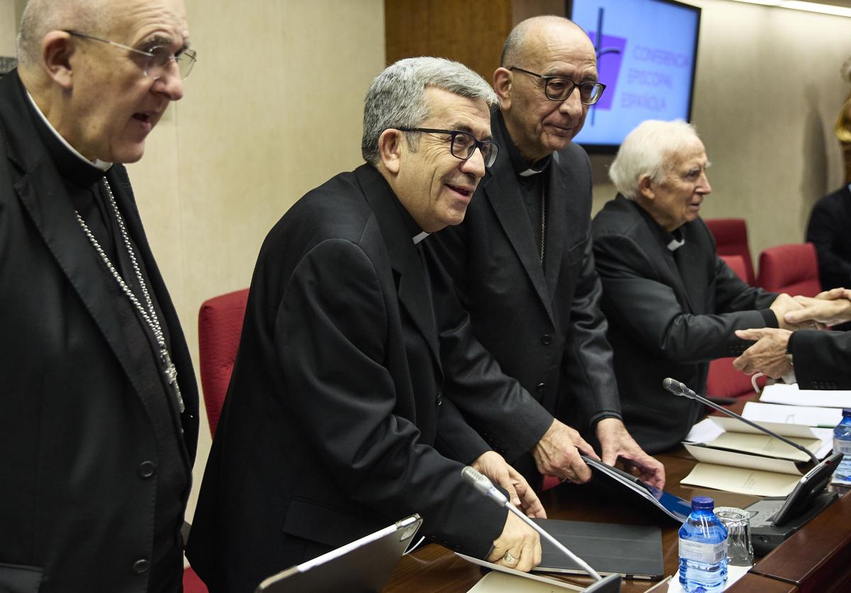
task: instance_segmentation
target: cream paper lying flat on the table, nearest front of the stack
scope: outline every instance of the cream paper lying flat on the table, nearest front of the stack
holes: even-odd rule
[[[800,476],[699,463],[680,483],[753,496],[788,496]]]

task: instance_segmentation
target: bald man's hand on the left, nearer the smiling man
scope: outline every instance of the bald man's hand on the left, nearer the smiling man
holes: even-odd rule
[[[591,445],[580,437],[579,432],[557,420],[552,421],[544,436],[532,449],[539,472],[573,483],[585,483],[591,479],[591,468],[585,464],[580,454],[600,459]]]

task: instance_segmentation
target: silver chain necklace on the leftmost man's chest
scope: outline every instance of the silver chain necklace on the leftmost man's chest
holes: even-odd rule
[[[130,299],[130,302],[133,303],[134,307],[137,311],[139,311],[142,319],[145,319],[148,327],[151,328],[153,332],[154,339],[157,340],[157,346],[160,349],[160,362],[165,366],[165,370],[163,371],[166,376],[166,380],[168,384],[174,387],[174,393],[177,397],[177,404],[180,408],[180,414],[186,410],[186,405],[183,403],[183,395],[180,393],[180,385],[177,382],[177,367],[174,366],[174,363],[171,360],[171,355],[168,353],[168,348],[165,345],[165,336],[163,334],[163,327],[159,323],[159,319],[157,318],[157,311],[154,309],[154,303],[151,301],[151,294],[148,292],[148,287],[145,284],[145,279],[142,277],[142,271],[139,268],[139,263],[136,262],[136,256],[133,251],[133,246],[130,243],[130,237],[127,233],[127,229],[124,227],[124,219],[121,217],[121,212],[118,212],[118,206],[115,203],[115,196],[112,195],[112,188],[109,185],[109,182],[106,181],[106,178],[103,178],[104,187],[106,188],[106,194],[109,195],[109,201],[112,206],[112,211],[115,212],[115,217],[118,222],[118,229],[121,229],[121,237],[124,242],[124,246],[127,248],[127,253],[130,257],[130,262],[133,263],[133,270],[136,273],[136,280],[139,280],[140,288],[142,289],[142,295],[145,296],[145,304],[147,309],[142,306],[142,303],[139,302],[139,299],[134,295],[133,291],[130,290],[129,285],[124,279],[121,277],[121,274],[118,273],[118,270],[112,262],[110,261],[109,256],[106,255],[106,251],[103,250],[103,247],[100,246],[100,243],[97,239],[94,238],[94,234],[92,234],[91,229],[89,229],[89,225],[86,224],[86,221],[83,220],[83,217],[80,216],[80,213],[76,210],[74,214],[77,215],[77,222],[80,223],[80,227],[83,229],[83,233],[89,237],[89,243],[94,247],[94,251],[97,251],[100,259],[103,260],[103,263],[106,264],[106,268],[109,269],[110,274],[112,274],[112,278],[116,280],[118,285],[121,287],[121,290],[124,291],[124,294]]]

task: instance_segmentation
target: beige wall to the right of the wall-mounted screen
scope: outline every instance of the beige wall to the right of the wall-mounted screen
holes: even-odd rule
[[[754,257],[803,240],[809,211],[842,184],[832,127],[851,90],[851,19],[727,0],[700,5],[692,119],[712,167],[703,217],[744,217]],[[595,212],[614,197],[595,156]],[[756,263],[757,260],[754,260]]]

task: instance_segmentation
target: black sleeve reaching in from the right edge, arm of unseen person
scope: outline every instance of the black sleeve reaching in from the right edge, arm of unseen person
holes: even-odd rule
[[[802,389],[851,389],[851,331],[796,331],[791,353]]]

